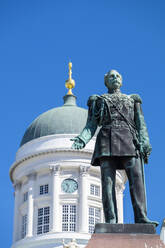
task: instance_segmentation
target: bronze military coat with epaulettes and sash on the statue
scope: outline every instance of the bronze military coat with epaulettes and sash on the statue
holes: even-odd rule
[[[86,144],[101,126],[92,165],[100,165],[99,158],[104,156],[137,156],[140,143],[146,154],[151,151],[141,103],[138,95],[129,96],[120,91],[89,98],[87,124],[78,137]]]

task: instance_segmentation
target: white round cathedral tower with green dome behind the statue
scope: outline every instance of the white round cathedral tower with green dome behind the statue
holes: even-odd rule
[[[72,80],[71,70],[69,75]],[[100,168],[90,165],[95,136],[84,149],[71,149],[70,139],[86,120],[87,110],[69,92],[62,107],[41,114],[27,128],[10,168],[15,189],[12,248],[63,247],[71,239],[85,247],[95,223],[104,222]],[[118,171],[120,223],[125,182],[125,173]]]

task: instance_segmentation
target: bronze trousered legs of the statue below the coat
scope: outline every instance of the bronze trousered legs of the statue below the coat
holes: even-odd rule
[[[115,194],[116,168],[118,167],[125,169],[128,177],[135,223],[146,218],[146,195],[141,159],[136,157],[102,157],[100,164],[105,221],[107,223],[118,222]]]

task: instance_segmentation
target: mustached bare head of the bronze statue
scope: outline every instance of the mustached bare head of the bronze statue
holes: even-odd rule
[[[122,86],[122,76],[116,70],[110,70],[104,76],[104,83],[110,91],[120,89]]]

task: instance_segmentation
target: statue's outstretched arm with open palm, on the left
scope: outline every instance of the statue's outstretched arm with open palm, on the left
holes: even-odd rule
[[[73,149],[82,149],[90,141],[97,129],[97,118],[96,118],[96,101],[97,95],[89,97],[88,100],[88,118],[83,131],[75,138],[71,139],[74,141]]]

